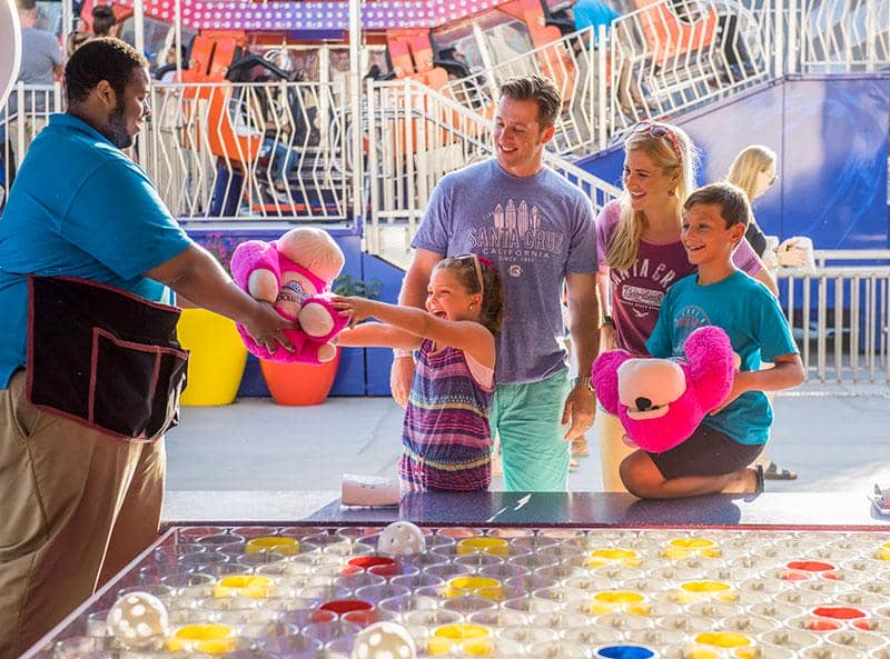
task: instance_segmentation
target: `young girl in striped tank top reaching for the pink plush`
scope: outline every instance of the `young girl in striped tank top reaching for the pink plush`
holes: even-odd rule
[[[494,336],[503,317],[497,268],[476,254],[443,259],[429,279],[426,311],[364,298],[335,297],[334,306],[353,324],[380,321],[344,330],[340,346],[419,349],[402,430],[402,489],[486,489]]]

